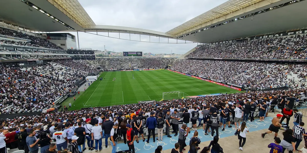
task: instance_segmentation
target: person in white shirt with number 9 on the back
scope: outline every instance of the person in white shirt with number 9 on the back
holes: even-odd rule
[[[57,131],[53,133],[52,139],[56,141],[56,147],[58,149],[58,153],[61,153],[61,149],[63,147],[64,150],[67,151],[67,143],[69,143],[66,133],[62,131],[62,127],[58,126]]]

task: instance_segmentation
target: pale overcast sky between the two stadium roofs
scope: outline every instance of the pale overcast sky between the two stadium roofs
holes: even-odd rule
[[[79,0],[85,11],[97,25],[124,26],[160,32],[167,32],[226,1],[227,0]],[[76,32],[71,33],[77,36]],[[113,33],[110,36],[118,37],[118,33]],[[129,34],[121,34],[121,38],[129,39]],[[139,40],[139,35],[131,35],[131,39]],[[155,37],[151,37],[150,39],[151,41],[158,41],[158,38]],[[141,35],[141,40],[149,41],[149,36]],[[144,53],[151,52],[153,54],[170,54],[171,50],[176,54],[184,54],[197,45],[197,43],[164,44],[136,42],[92,35],[84,32],[79,32],[79,41],[80,48],[104,50],[105,45],[106,49],[110,51],[142,51]],[[160,42],[167,42],[167,39],[160,38]],[[169,42],[176,42],[176,40],[169,39]]]

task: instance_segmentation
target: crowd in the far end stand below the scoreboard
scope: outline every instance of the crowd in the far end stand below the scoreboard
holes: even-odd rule
[[[90,61],[105,70],[164,69],[175,58],[102,58]]]

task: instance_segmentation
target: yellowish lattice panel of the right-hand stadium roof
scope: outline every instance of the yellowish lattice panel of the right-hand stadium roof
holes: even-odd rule
[[[258,5],[258,3],[261,1],[266,1],[265,2],[266,4],[262,3],[261,5]],[[239,13],[245,13],[247,12],[245,8],[248,6],[251,6],[250,7],[251,9],[258,9],[259,7],[263,7],[264,5],[270,5],[278,1],[281,1],[281,0],[229,0],[177,26],[176,28],[169,30],[166,33],[177,36],[181,32],[187,33],[192,30],[196,30],[198,28],[205,27],[207,22],[210,22],[213,20],[217,21],[217,19],[220,17],[222,17],[223,19],[227,19],[226,15],[228,14],[230,14],[229,17],[234,17],[236,15],[239,15]],[[250,9],[248,11],[250,11]]]

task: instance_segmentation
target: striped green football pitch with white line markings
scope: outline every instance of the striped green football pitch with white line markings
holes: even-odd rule
[[[102,76],[105,79],[93,82],[72,103],[70,110],[159,101],[163,92],[172,91],[180,91],[180,97],[240,92],[168,70],[103,72],[99,77]],[[115,81],[113,78],[116,78]]]

